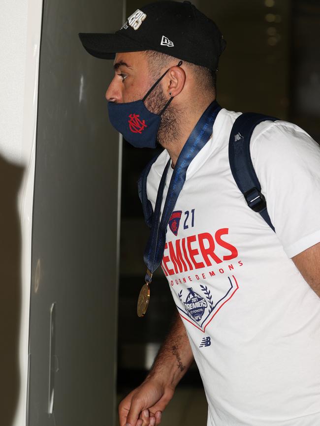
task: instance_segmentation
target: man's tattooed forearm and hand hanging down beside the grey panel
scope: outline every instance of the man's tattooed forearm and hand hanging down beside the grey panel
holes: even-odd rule
[[[177,314],[146,379],[120,403],[120,426],[160,425],[161,412],[192,360],[186,329]]]

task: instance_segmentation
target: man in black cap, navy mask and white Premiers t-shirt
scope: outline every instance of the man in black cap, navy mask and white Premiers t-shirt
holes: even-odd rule
[[[193,357],[208,426],[320,425],[318,145],[292,123],[256,126],[251,156],[273,232],[230,171],[240,113],[215,101],[225,46],[215,24],[190,2],[161,1],[115,34],[80,38],[92,55],[115,58],[106,92],[114,126],[134,146],[157,139],[164,148],[147,177],[157,239],[146,249],[146,291],[150,260],[160,258],[178,315],[147,378],[121,402],[120,425],[160,425]]]

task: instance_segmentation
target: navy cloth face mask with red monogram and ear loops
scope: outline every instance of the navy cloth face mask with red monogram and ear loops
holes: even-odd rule
[[[181,64],[182,61],[179,61],[178,66]],[[159,84],[169,69],[161,75],[143,99],[125,103],[108,102],[109,120],[111,124],[123,135],[126,141],[135,148],[156,148],[161,115],[169,106],[173,97],[167,101],[159,114],[150,112],[146,108],[144,101]]]

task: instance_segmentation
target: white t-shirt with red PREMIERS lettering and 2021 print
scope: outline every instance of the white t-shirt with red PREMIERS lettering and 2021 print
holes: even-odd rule
[[[253,164],[274,233],[232,177],[222,109],[192,160],[161,267],[208,400],[208,426],[320,425],[320,298],[290,259],[320,242],[320,148],[298,126],[262,122]],[[147,181],[155,207],[169,156]],[[172,176],[169,168],[163,203]],[[162,203],[162,208],[163,208]]]

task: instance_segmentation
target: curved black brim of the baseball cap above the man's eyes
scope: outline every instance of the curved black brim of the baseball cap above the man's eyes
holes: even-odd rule
[[[79,38],[90,55],[100,59],[114,59],[117,52],[139,52],[147,50],[136,41],[120,34],[80,32]]]

